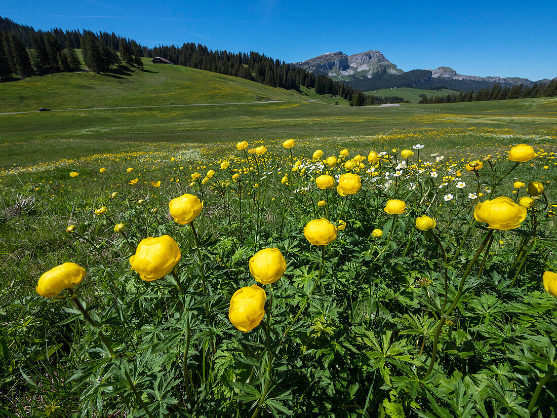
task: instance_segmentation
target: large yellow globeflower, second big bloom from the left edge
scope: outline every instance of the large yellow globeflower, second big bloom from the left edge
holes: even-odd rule
[[[172,237],[150,236],[139,242],[135,254],[130,257],[130,264],[141,279],[153,281],[170,273],[181,256],[178,244]]]

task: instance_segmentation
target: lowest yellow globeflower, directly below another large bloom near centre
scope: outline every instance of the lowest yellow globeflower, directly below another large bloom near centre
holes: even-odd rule
[[[265,315],[265,299],[265,290],[256,284],[236,290],[230,298],[228,319],[242,332],[252,330]]]

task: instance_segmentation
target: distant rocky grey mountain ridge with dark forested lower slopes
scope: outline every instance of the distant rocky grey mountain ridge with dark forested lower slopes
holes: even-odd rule
[[[380,51],[366,51],[346,55],[343,52],[328,52],[306,61],[292,65],[315,74],[331,77],[333,80],[346,81],[351,87],[363,91],[394,87],[413,87],[432,89],[445,86],[453,90],[478,90],[498,83],[502,86],[524,84],[534,85],[535,81],[520,77],[479,77],[458,74],[451,67],[438,67],[434,70],[403,71],[390,62]],[[544,79],[536,81],[549,82]]]

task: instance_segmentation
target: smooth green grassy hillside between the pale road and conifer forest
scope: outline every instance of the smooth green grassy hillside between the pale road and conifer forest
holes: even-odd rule
[[[246,103],[262,100],[326,98],[313,91],[284,90],[214,72],[179,65],[121,66],[113,74],[50,74],[0,84],[0,113],[48,109],[151,106],[199,103]],[[343,102],[344,99],[338,99]]]

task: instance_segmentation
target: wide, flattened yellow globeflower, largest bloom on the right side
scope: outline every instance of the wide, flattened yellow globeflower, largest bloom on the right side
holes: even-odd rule
[[[490,229],[507,231],[518,228],[526,219],[526,208],[508,197],[497,197],[478,202],[474,208],[474,217],[478,222],[487,223]]]

